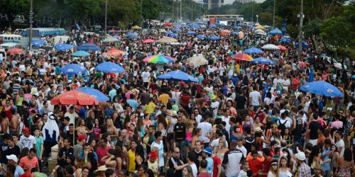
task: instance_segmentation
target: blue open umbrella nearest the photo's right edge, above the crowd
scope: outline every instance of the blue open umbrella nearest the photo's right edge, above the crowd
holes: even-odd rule
[[[339,91],[336,86],[333,86],[326,81],[308,82],[305,85],[300,86],[300,90],[308,91],[310,93],[315,93],[321,96],[344,96],[342,91]]]

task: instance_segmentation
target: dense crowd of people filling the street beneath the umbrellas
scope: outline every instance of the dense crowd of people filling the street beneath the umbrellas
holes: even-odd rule
[[[324,53],[315,52],[311,43],[298,57],[295,42],[281,43],[280,36],[259,35],[246,25],[238,30],[244,35],[219,33],[234,30],[226,25],[181,30],[175,45],[143,43],[167,35],[159,30],[147,35],[138,31],[135,39],[111,34],[122,35],[117,43],[70,30],[70,40],[62,42],[94,43],[102,51],[79,58],[70,56],[72,50],[4,58],[0,176],[355,176],[354,72],[322,59]],[[197,38],[186,35],[187,30],[220,39]],[[52,38],[43,37],[48,44]],[[252,56],[273,64],[233,58],[268,43],[287,50]],[[126,54],[102,57],[113,47]],[[176,62],[159,69],[142,61],[158,54]],[[205,57],[208,64],[189,64],[187,58],[195,56]],[[94,69],[104,61],[120,64],[125,72]],[[62,74],[60,68],[70,63],[87,72]],[[353,68],[349,58],[342,63]],[[157,79],[174,70],[198,82]],[[344,97],[300,91],[310,76],[337,86]],[[109,101],[50,103],[60,93],[84,86],[101,91]],[[51,159],[57,163],[48,169]]]

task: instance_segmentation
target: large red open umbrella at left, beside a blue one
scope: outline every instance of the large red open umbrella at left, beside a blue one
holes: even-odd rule
[[[65,91],[50,100],[52,105],[99,105],[99,101],[82,91]]]

